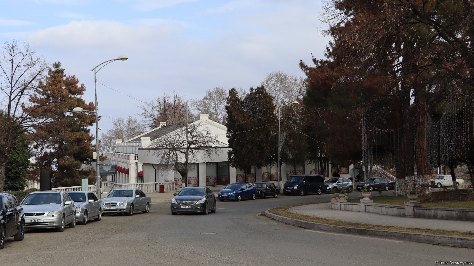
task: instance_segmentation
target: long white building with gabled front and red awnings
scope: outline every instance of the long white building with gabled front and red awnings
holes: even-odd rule
[[[210,133],[217,136],[219,143],[216,144],[216,153],[210,158],[199,157],[190,162],[188,172],[188,186],[213,186],[215,190],[229,183],[241,183],[245,181],[245,174],[240,169],[231,167],[227,161],[228,139],[227,128],[209,119],[209,115],[201,114],[200,119],[193,122],[209,129]],[[182,187],[181,175],[173,169],[160,165],[157,153],[152,149],[152,142],[157,138],[184,127],[184,125],[167,126],[161,123],[160,127],[146,131],[135,138],[123,141],[116,140],[116,151],[108,153],[108,159],[117,165],[117,183],[157,183],[174,181],[177,188]],[[183,133],[185,132],[182,130]],[[324,173],[325,177],[332,177],[331,166],[328,165]],[[349,177],[349,167],[340,167],[341,177]],[[285,165],[281,167],[283,182],[292,174],[322,174],[314,162],[305,165]],[[252,180],[250,183],[271,181],[276,183],[276,164],[254,167],[252,169]]]

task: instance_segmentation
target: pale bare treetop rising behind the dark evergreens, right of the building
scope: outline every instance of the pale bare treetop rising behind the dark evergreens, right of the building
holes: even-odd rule
[[[282,106],[282,101],[289,103],[295,101],[301,95],[305,79],[276,71],[268,73],[262,85],[273,96],[273,104],[276,106],[275,110],[278,110]]]

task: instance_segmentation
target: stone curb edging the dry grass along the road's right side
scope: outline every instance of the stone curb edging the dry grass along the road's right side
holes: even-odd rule
[[[297,219],[292,219],[280,215],[276,215],[265,211],[265,215],[273,220],[281,221],[290,225],[307,228],[307,229],[317,229],[338,233],[349,233],[365,236],[376,236],[384,238],[397,238],[402,240],[409,240],[419,243],[427,243],[434,245],[442,246],[451,246],[459,248],[474,248],[474,238],[461,238],[461,237],[450,237],[450,236],[438,236],[438,235],[428,235],[428,234],[417,234],[417,233],[406,233],[406,232],[395,232],[395,231],[383,231],[376,229],[364,229],[364,228],[355,228],[355,227],[343,227],[337,225],[329,225],[322,223],[315,223],[309,221],[302,221]]]

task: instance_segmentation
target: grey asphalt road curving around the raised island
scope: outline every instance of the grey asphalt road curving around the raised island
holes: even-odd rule
[[[0,265],[413,266],[473,260],[472,249],[305,230],[259,215],[275,206],[328,199],[325,194],[218,202],[217,213],[207,216],[172,216],[169,203],[157,203],[148,214],[108,215],[64,232],[27,231],[24,241],[7,242]]]

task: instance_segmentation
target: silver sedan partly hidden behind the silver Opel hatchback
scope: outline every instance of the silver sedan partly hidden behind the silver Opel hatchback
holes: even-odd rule
[[[102,201],[93,192],[71,191],[68,194],[76,204],[76,222],[86,225],[90,219],[100,221],[102,218]]]

